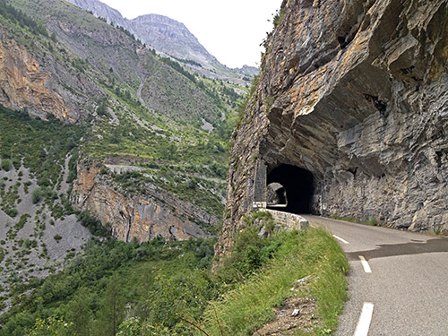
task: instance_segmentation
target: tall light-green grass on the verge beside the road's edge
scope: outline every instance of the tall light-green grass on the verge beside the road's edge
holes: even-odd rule
[[[250,335],[270,321],[273,308],[292,296],[294,282],[311,275],[310,294],[317,302],[314,332],[334,330],[347,299],[349,265],[340,246],[322,229],[310,228],[283,236],[276,257],[258,275],[213,301],[205,312],[210,335]],[[219,321],[219,323],[218,323]]]

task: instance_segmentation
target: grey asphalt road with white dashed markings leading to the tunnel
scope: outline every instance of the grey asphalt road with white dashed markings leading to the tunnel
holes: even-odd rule
[[[448,336],[447,238],[303,217],[330,230],[349,259],[336,335]]]

